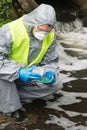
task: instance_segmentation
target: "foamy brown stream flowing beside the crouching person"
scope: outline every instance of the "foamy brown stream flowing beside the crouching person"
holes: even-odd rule
[[[79,20],[56,28],[63,89],[27,104],[28,123],[2,123],[0,129],[87,130],[87,28]]]

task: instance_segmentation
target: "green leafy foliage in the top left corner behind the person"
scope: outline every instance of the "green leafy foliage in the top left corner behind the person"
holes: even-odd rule
[[[9,11],[11,3],[12,0],[0,0],[0,26],[11,21],[11,16]]]

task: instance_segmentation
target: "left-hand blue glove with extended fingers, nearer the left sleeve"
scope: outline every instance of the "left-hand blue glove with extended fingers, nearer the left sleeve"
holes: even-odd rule
[[[37,73],[33,73],[32,70],[36,66],[31,66],[29,68],[21,68],[18,72],[19,74],[19,79],[21,79],[24,82],[30,82],[32,80],[40,80],[41,75]]]

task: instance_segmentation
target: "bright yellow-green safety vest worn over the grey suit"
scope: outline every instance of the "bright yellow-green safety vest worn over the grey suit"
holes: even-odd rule
[[[11,30],[13,39],[13,44],[11,48],[11,53],[9,54],[9,58],[22,64],[28,65],[30,38],[27,34],[25,26],[23,25],[22,17],[13,22],[8,23],[8,26]],[[46,38],[42,42],[42,48],[39,55],[28,66],[38,64],[41,62],[42,58],[44,57],[50,45],[52,44],[53,40],[54,32],[48,33]]]

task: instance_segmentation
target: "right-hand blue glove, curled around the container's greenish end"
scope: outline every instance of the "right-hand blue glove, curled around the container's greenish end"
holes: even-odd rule
[[[55,73],[52,71],[47,71],[41,79],[41,82],[47,85],[53,84],[55,82]]]

